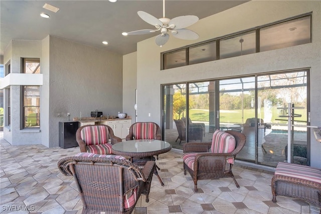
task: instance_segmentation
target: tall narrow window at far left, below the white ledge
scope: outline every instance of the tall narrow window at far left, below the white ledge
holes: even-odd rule
[[[23,128],[40,127],[40,86],[23,86]]]

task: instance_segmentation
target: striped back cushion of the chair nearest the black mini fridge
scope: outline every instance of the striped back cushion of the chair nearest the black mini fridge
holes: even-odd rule
[[[87,126],[81,130],[80,137],[86,145],[108,143],[108,129],[105,126]]]

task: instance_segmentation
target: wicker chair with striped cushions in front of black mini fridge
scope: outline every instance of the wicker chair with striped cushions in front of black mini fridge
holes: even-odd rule
[[[114,136],[107,125],[87,125],[77,130],[76,141],[80,152],[107,155],[111,154],[111,146],[121,142],[121,139]]]

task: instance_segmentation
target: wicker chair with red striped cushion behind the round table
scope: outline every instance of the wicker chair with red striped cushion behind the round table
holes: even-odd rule
[[[152,122],[137,122],[129,127],[126,141],[129,140],[162,140],[161,128]],[[158,160],[158,155],[156,155]]]

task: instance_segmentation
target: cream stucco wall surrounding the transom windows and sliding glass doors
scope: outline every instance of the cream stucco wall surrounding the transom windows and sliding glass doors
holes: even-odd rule
[[[297,68],[311,68],[311,125],[321,126],[321,24],[320,1],[251,1],[207,17],[190,27],[197,41],[170,36],[162,48],[154,38],[137,44],[138,121],[161,122],[161,84],[230,77]],[[289,17],[313,12],[311,44],[243,55],[190,66],[160,70],[160,53],[200,41],[224,36]],[[153,47],[153,48],[151,48]],[[148,117],[148,113],[151,117]],[[311,166],[321,168],[321,144],[311,134]]]

